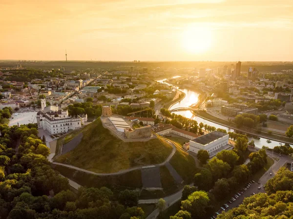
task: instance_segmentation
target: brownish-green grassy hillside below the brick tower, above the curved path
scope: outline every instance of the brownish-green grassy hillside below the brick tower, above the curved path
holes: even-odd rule
[[[157,164],[167,159],[172,147],[161,138],[124,142],[102,126],[100,118],[85,126],[82,142],[56,161],[97,173],[113,173],[130,167]],[[135,162],[139,159],[139,162]]]

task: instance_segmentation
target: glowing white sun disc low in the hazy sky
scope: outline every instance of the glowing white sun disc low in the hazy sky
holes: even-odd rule
[[[211,47],[211,30],[207,27],[188,26],[183,32],[183,47],[189,53],[204,53]]]

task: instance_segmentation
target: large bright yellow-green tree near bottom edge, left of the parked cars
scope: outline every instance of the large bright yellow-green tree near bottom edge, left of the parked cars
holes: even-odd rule
[[[192,218],[205,219],[209,196],[205,191],[196,191],[188,196],[188,199],[181,201],[181,209],[188,211]]]

